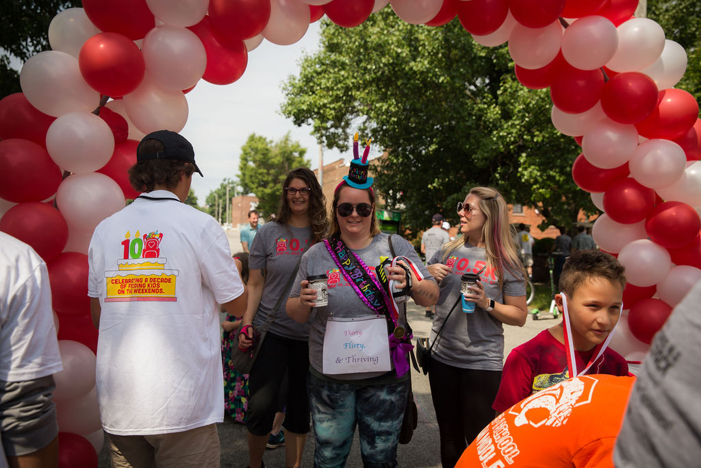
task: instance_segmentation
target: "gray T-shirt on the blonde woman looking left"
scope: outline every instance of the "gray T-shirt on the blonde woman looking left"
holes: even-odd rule
[[[442,263],[442,251],[433,255],[428,265]],[[440,298],[436,305],[436,316],[431,327],[430,342],[436,339],[450,309],[461,298],[460,277],[465,273],[477,273],[486,264],[486,252],[483,247],[469,244],[454,250],[444,265],[451,271],[440,282]],[[504,302],[503,295],[522,296],[526,294],[525,278],[522,274],[515,276],[505,268],[503,287],[493,269],[486,268],[479,274],[487,297],[496,302]],[[504,361],[504,329],[489,312],[475,306],[475,312],[465,314],[461,304],[448,319],[440,333],[433,355],[437,361],[449,366],[478,370],[501,370]]]

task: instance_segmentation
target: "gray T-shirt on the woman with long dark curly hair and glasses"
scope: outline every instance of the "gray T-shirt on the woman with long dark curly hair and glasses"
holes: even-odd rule
[[[267,321],[280,295],[287,296],[287,290],[283,288],[290,281],[297,260],[302,253],[306,252],[311,239],[311,227],[292,227],[273,221],[266,222],[258,228],[258,233],[250,246],[248,267],[265,269],[265,284],[261,302],[253,320],[254,326],[259,327]],[[293,340],[307,340],[308,324],[297,323],[290,319],[285,312],[285,302],[287,302],[285,299],[280,302],[280,307],[275,312],[275,320],[268,330],[275,335]]]

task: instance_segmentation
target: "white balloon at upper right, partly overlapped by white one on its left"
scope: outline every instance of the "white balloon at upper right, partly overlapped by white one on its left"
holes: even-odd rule
[[[665,31],[648,18],[632,18],[618,26],[618,48],[606,67],[614,72],[639,72],[660,58]]]

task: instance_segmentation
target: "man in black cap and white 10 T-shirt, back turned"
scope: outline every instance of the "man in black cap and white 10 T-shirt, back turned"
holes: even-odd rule
[[[97,399],[114,466],[219,466],[224,418],[219,308],[247,293],[219,223],[182,203],[192,145],[156,131],[129,180],[144,193],[100,222],[88,250]]]

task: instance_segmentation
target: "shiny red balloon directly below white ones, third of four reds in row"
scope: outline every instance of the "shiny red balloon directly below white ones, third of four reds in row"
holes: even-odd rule
[[[653,112],[657,102],[655,81],[640,72],[619,73],[601,91],[601,109],[618,123],[638,123]]]

